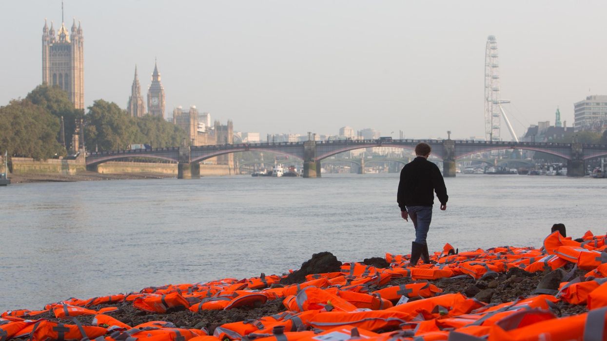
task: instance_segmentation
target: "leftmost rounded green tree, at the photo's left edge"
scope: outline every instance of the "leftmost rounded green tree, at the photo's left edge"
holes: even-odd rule
[[[10,156],[64,156],[65,150],[56,140],[57,131],[59,119],[27,99],[0,107],[0,150],[7,150]]]

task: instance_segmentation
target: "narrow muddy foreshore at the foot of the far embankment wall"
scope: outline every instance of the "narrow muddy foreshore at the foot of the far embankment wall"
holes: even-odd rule
[[[164,179],[175,177],[163,173],[101,174],[84,171],[78,174],[8,174],[11,184],[29,184],[32,182],[75,182],[98,180]]]

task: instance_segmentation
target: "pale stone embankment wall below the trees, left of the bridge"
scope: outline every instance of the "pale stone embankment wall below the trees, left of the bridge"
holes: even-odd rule
[[[8,168],[10,168],[11,173],[13,174],[74,175],[86,171],[86,163],[83,156],[79,156],[75,160],[34,160],[31,157],[12,157],[10,160],[12,167]],[[4,167],[4,165],[2,167]]]

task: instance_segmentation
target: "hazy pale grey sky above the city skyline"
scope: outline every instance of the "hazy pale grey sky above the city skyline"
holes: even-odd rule
[[[166,109],[196,105],[234,130],[484,136],[484,52],[500,51],[518,134],[607,94],[605,1],[65,1],[82,22],[85,105],[146,96],[158,59]],[[0,0],[0,105],[41,83],[44,18],[60,0]],[[503,126],[502,137],[509,139]]]

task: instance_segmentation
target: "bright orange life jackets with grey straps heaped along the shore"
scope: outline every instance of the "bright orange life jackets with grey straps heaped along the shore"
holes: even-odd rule
[[[0,315],[0,341],[607,340],[606,239],[587,232],[583,242],[576,242],[555,232],[540,249],[496,247],[456,253],[447,244],[432,254],[431,264],[410,267],[408,255],[386,254],[388,268],[344,263],[341,271],[310,274],[305,282],[293,285],[278,285],[287,275],[261,274],[242,280],[149,287],[138,293],[87,300],[72,298],[38,311],[5,311]],[[461,293],[446,294],[430,282],[446,277],[483,279],[511,268],[535,273],[566,266],[588,273],[561,283],[559,290],[513,297],[512,302],[501,304],[483,303]],[[400,277],[410,277],[413,282],[388,285]],[[282,300],[283,313],[225,323],[212,333],[160,320],[130,326],[107,314],[117,309],[111,305],[121,302],[164,314],[257,307],[277,299]],[[586,305],[588,312],[558,317],[558,302]],[[109,306],[91,309],[100,304]],[[36,319],[49,311],[59,322]],[[93,316],[92,325],[78,322],[75,317],[82,315]]]

